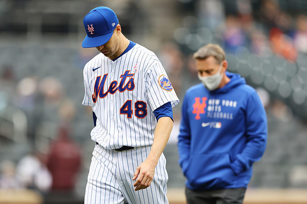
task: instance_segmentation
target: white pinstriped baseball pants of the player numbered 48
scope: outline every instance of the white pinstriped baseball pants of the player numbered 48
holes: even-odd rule
[[[147,158],[151,146],[115,152],[96,145],[87,177],[85,204],[168,204],[166,159],[162,153],[153,181],[146,189],[134,191],[136,168]]]

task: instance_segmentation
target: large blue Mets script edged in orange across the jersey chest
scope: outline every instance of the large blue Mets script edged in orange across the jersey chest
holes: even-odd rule
[[[103,91],[104,84],[107,80],[108,74],[103,75],[102,79],[100,80],[101,76],[98,76],[96,78],[95,87],[94,87],[94,94],[92,94],[93,102],[96,103],[98,97],[104,98],[108,95],[108,93],[114,94],[115,92],[124,92],[126,90],[132,91],[134,89],[134,79],[132,78],[134,74],[129,73],[130,70],[125,71],[124,74],[120,76],[121,81],[119,82],[119,85],[117,86],[118,82],[113,81],[111,82],[108,90],[106,92]],[[125,84],[125,80],[127,77],[131,77],[129,81]]]

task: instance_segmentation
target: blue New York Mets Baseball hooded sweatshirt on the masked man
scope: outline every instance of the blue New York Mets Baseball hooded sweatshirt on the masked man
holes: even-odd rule
[[[239,74],[208,91],[187,90],[178,136],[179,163],[192,190],[247,187],[266,147],[267,119],[255,89]]]

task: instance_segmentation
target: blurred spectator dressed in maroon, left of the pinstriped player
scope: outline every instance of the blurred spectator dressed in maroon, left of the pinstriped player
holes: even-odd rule
[[[52,174],[52,190],[72,191],[81,166],[81,151],[70,138],[68,130],[61,127],[52,143],[47,167]]]

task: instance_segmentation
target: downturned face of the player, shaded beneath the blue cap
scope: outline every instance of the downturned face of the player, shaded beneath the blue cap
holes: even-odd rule
[[[113,31],[113,35],[108,42],[96,48],[99,52],[104,54],[104,56],[106,57],[109,57],[111,59],[118,57],[118,56],[115,56],[116,52],[119,49],[119,35],[118,35],[117,28]]]

